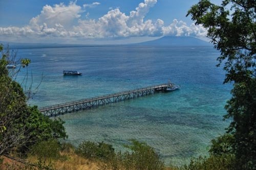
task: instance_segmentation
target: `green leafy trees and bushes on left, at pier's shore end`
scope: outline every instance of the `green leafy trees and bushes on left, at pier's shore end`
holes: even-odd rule
[[[52,120],[42,115],[36,106],[27,105],[28,97],[7,69],[13,62],[11,58],[15,58],[10,54],[15,53],[3,52],[2,45],[0,52],[0,156],[14,148],[27,151],[32,144],[49,138],[66,138],[62,120]],[[29,63],[29,59],[20,60],[20,68]]]

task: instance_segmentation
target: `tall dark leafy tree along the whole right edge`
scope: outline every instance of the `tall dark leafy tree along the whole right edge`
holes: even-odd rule
[[[223,0],[221,6],[201,0],[187,13],[208,30],[207,37],[221,52],[217,66],[224,62],[224,83],[233,83],[224,118],[232,119],[227,133],[234,138],[238,169],[256,169],[255,12],[255,0]]]

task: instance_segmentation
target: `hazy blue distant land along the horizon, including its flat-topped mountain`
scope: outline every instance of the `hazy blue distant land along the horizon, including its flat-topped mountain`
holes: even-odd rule
[[[58,48],[58,47],[86,47],[86,46],[116,46],[116,45],[142,45],[142,46],[169,46],[169,47],[212,47],[212,44],[195,37],[166,36],[156,40],[132,43],[132,44],[59,44],[59,43],[19,43],[0,41],[4,46],[9,45],[12,49],[22,48]]]

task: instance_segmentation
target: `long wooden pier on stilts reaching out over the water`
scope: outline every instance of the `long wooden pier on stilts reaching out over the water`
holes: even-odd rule
[[[140,96],[145,96],[153,94],[156,91],[166,88],[169,83],[149,86],[144,88],[138,88],[134,90],[127,90],[122,92],[117,92],[113,94],[107,94],[102,96],[97,96],[95,98],[89,98],[74,102],[68,102],[48,107],[39,108],[39,111],[45,116],[53,117],[62,115],[65,113],[70,113],[79,110],[91,109],[98,106],[107,105],[110,103],[117,103],[125,100],[130,100],[134,98],[139,98]]]

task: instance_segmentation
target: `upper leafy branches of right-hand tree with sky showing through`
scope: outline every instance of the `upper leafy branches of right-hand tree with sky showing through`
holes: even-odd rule
[[[224,0],[221,6],[202,0],[187,15],[208,29],[207,37],[225,62],[225,83],[241,83],[255,77],[255,2]],[[230,11],[227,10],[231,6]],[[231,14],[230,14],[231,13]],[[218,64],[220,66],[220,64]]]

